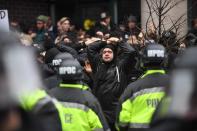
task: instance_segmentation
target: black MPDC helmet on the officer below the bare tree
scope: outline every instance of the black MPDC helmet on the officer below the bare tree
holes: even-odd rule
[[[144,67],[160,67],[166,59],[165,47],[157,43],[149,43],[146,45],[142,62]]]

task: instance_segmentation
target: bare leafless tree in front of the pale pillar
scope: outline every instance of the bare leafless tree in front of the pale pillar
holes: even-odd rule
[[[181,2],[186,0],[146,0],[146,4],[149,10],[149,17],[146,21],[146,36],[149,37],[148,28],[151,25],[154,27],[154,32],[156,33],[155,40],[158,42],[161,40],[162,33],[164,31],[172,31],[176,34],[176,36],[180,35],[180,29],[182,25],[186,22],[186,14],[182,14],[176,20],[172,19],[169,15],[169,12],[176,8]],[[170,22],[169,25],[166,26],[166,21]]]

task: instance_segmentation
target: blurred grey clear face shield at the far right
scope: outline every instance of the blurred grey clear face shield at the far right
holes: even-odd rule
[[[176,69],[172,72],[169,115],[184,117],[189,112],[195,88],[194,73],[191,69]]]

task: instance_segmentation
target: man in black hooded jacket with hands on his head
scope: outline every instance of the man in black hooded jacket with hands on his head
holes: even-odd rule
[[[111,130],[115,130],[116,106],[128,84],[135,50],[117,37],[107,40],[92,38],[86,44],[93,71],[93,93],[101,104]],[[117,56],[117,49],[121,52],[121,59]]]

